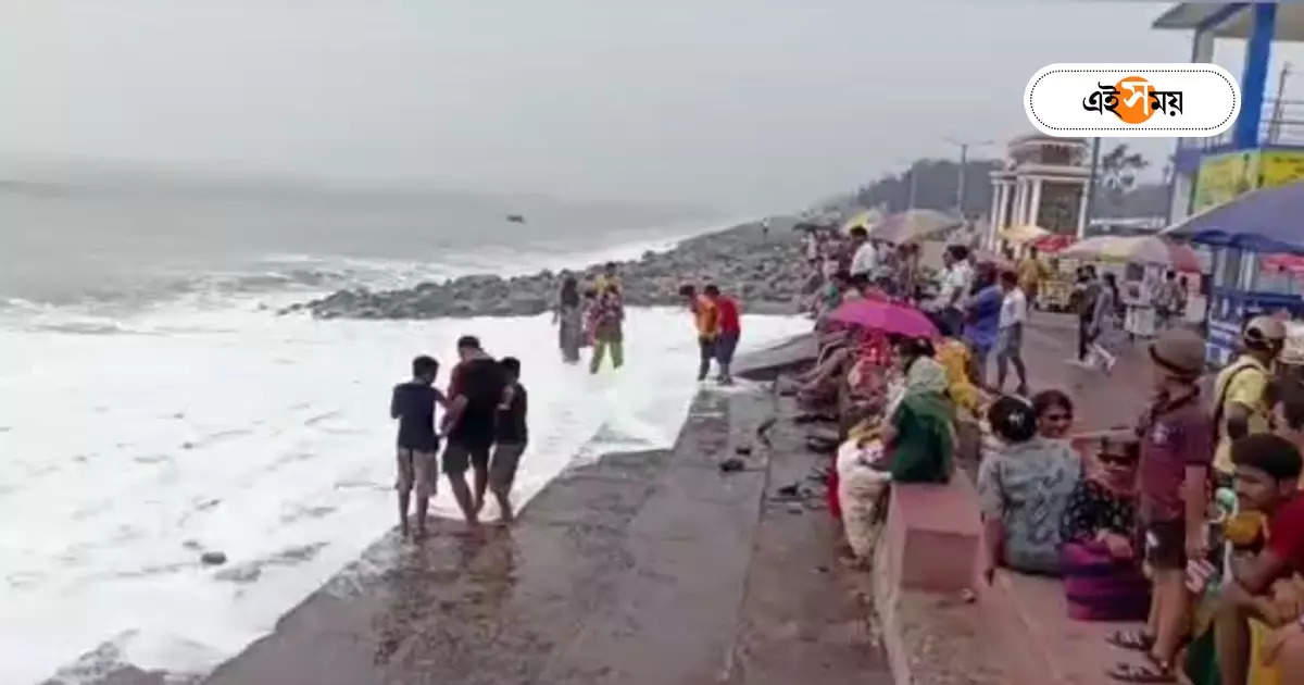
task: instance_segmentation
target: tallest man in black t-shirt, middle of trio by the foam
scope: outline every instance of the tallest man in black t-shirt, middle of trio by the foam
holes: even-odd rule
[[[489,485],[489,450],[494,440],[494,418],[502,401],[506,378],[502,367],[480,348],[480,341],[464,335],[458,341],[456,393],[443,416],[443,472],[467,523],[479,522]],[[475,497],[467,488],[467,467],[475,468]]]

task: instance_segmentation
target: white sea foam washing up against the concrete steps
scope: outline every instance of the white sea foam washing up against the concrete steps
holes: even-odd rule
[[[690,326],[683,312],[632,311],[626,368],[589,376],[559,361],[546,316],[326,322],[248,300],[5,321],[0,682],[96,648],[203,672],[271,630],[393,527],[387,402],[415,354],[449,363],[475,333],[522,359],[524,498],[576,454],[670,444],[696,390]],[[742,347],[805,327],[746,317]],[[447,487],[436,510],[454,513]],[[210,549],[227,564],[202,566]]]

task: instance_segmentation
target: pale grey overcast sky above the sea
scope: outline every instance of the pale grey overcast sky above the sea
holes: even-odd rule
[[[810,7],[818,4],[819,7]],[[0,0],[0,155],[780,209],[1031,130],[1166,4]],[[1239,73],[1240,43],[1218,61]],[[1161,158],[1168,142],[1150,142]],[[995,154],[999,146],[975,150]]]

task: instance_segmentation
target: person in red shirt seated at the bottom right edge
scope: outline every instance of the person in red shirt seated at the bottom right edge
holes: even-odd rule
[[[1267,543],[1248,558],[1232,557],[1231,578],[1221,588],[1221,607],[1214,632],[1218,665],[1224,685],[1244,685],[1249,671],[1249,624],[1258,618],[1275,628],[1267,658],[1278,662],[1283,685],[1304,681],[1304,617],[1286,622],[1262,616],[1262,603],[1273,583],[1304,573],[1304,496],[1299,491],[1300,453],[1291,441],[1254,433],[1235,441],[1231,461],[1236,467],[1236,498],[1243,511],[1267,517]],[[1209,577],[1215,569],[1197,564],[1191,575]],[[1294,668],[1292,668],[1294,667]]]

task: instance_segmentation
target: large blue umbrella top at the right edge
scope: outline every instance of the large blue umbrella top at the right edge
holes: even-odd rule
[[[1252,252],[1304,253],[1304,181],[1251,190],[1164,228],[1162,235]]]

